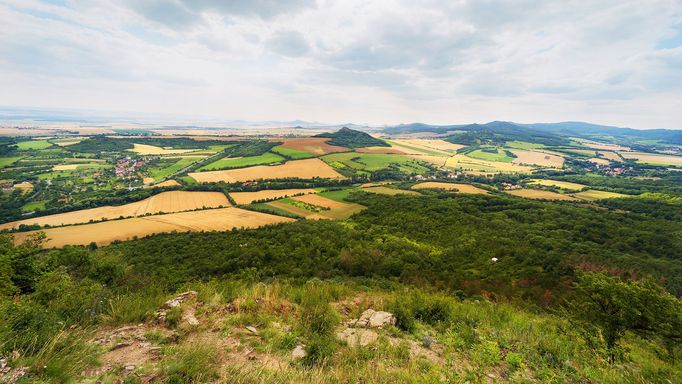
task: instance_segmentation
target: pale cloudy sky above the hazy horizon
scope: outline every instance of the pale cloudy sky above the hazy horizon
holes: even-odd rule
[[[682,0],[0,0],[0,105],[682,129]]]

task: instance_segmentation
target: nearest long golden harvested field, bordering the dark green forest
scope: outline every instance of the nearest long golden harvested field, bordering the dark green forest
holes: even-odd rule
[[[129,240],[155,233],[227,231],[232,228],[256,228],[290,221],[293,219],[239,208],[209,209],[49,228],[43,230],[48,238],[43,246],[52,248],[87,245],[91,242],[106,245],[114,240]],[[21,242],[35,232],[17,233],[15,241]]]

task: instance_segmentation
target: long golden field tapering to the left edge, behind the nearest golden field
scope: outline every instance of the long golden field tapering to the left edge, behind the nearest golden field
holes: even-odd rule
[[[169,191],[124,205],[83,209],[0,224],[0,230],[17,228],[21,224],[50,225],[55,227],[59,225],[82,224],[91,220],[116,219],[121,216],[144,216],[160,212],[181,212],[201,208],[218,208],[221,206],[230,206],[227,197],[221,192]]]

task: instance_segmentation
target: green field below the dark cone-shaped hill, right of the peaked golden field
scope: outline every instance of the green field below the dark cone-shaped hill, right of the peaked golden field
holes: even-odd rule
[[[379,153],[343,152],[332,153],[321,157],[327,164],[334,168],[350,168],[357,171],[378,171],[397,165],[402,172],[419,173],[427,171],[427,168],[419,165],[415,160],[406,157]]]

